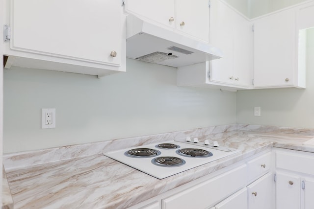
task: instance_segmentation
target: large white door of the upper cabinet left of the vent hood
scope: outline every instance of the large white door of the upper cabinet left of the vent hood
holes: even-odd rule
[[[10,47],[119,66],[122,10],[118,0],[11,0]]]

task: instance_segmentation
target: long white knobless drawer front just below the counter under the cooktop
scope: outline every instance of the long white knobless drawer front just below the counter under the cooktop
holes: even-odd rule
[[[204,209],[221,201],[246,184],[246,165],[190,187],[162,200],[162,209]]]

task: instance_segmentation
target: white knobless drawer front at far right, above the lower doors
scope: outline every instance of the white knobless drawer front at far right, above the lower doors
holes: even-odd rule
[[[314,156],[298,153],[276,152],[276,168],[314,175]]]

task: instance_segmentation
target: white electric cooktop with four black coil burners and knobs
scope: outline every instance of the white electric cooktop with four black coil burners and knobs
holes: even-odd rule
[[[157,179],[163,179],[236,152],[238,150],[228,147],[214,147],[213,142],[205,145],[203,142],[172,140],[106,152],[104,155]]]

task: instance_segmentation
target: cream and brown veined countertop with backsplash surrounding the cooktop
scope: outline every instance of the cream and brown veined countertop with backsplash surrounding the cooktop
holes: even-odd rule
[[[217,140],[240,152],[162,180],[103,155],[187,136]],[[231,124],[12,153],[4,155],[3,162],[15,209],[125,209],[273,146],[314,152],[314,146],[303,145],[312,138],[310,129]]]

